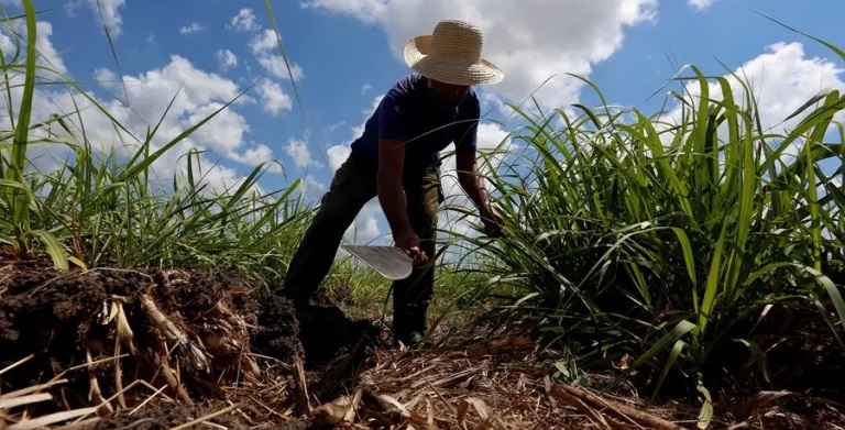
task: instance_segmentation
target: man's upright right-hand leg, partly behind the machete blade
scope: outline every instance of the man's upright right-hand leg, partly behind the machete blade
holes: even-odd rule
[[[429,258],[429,264],[415,267],[410,276],[393,283],[394,340],[414,345],[426,332],[428,302],[434,293],[437,210],[441,201],[439,172],[426,172],[421,180],[406,185],[405,194],[410,224],[419,236],[420,251]]]

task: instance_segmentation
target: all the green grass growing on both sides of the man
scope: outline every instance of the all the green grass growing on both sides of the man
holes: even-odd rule
[[[186,175],[155,177],[154,162],[219,111],[155,145],[153,125],[132,136],[131,151],[110,153],[96,150],[79,110],[31,118],[34,90],[63,86],[131,134],[77,84],[36,64],[29,43],[36,13],[31,1],[23,4],[25,15],[3,22],[11,29],[24,20],[26,33],[0,64],[10,120],[0,130],[0,244],[22,258],[46,254],[63,269],[238,265],[260,284],[277,285],[311,216],[297,194],[300,180],[260,191],[262,165],[237,187],[215,190],[196,152],[180,154]],[[452,234],[449,246],[463,257],[438,267],[432,318],[496,329],[528,322],[569,352],[557,370],[570,381],[632,354],[621,378],[656,370],[654,394],[672,381],[698,395],[703,422],[715,390],[778,386],[754,326],[770,307],[813,312],[844,349],[845,173],[825,173],[822,163],[839,162],[845,150],[835,121],[845,97],[808,100],[783,119],[800,121],[778,134],[761,130],[740,76],[692,71],[677,79],[698,88],[696,96],[673,93],[678,118],[606,103],[551,112],[511,106],[523,124],[511,137],[526,150],[486,178],[507,234]],[[712,97],[714,89],[726,96]],[[39,172],[28,156],[44,145],[69,148],[55,172]],[[784,157],[793,145],[798,157]],[[389,283],[352,261],[338,261],[326,284],[349,289],[361,315],[387,310]],[[756,366],[728,374],[720,363],[737,345]]]

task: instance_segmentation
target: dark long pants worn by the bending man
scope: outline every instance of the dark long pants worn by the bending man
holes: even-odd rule
[[[377,161],[349,157],[334,174],[329,191],[294,255],[282,286],[283,294],[307,304],[331,268],[343,233],[361,208],[377,196]],[[440,172],[435,167],[405,168],[403,178],[408,218],[429,257],[425,267],[393,283],[393,330],[399,340],[426,331],[426,312],[435,283],[434,255],[437,211],[443,200]]]

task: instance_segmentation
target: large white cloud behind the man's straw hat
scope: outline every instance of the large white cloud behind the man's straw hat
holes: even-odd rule
[[[323,8],[381,25],[400,60],[405,42],[429,34],[437,21],[467,19],[484,31],[485,56],[506,74],[491,91],[522,101],[553,75],[589,75],[593,65],[622,46],[626,26],[652,20],[657,0],[305,0],[306,8]],[[578,100],[583,82],[557,76],[536,97],[544,107]]]

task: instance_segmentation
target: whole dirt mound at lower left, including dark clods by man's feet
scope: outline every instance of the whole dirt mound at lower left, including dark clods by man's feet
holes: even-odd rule
[[[34,415],[98,406],[107,416],[155,394],[185,406],[168,409],[173,417],[195,416],[197,399],[289,375],[296,361],[315,371],[315,392],[331,397],[342,378],[332,374],[320,390],[320,368],[342,357],[353,371],[364,361],[361,343],[381,335],[333,306],[297,315],[288,300],[254,290],[237,268],[2,267],[0,393],[47,384],[52,398]],[[281,365],[262,368],[260,361]],[[61,388],[52,385],[62,379]]]

